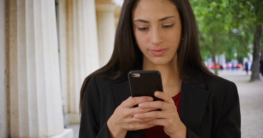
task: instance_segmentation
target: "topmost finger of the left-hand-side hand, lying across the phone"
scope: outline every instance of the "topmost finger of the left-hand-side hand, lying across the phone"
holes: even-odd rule
[[[123,106],[127,108],[133,108],[134,106],[138,105],[138,103],[143,103],[146,101],[153,101],[152,97],[129,97],[125,101],[123,101]]]

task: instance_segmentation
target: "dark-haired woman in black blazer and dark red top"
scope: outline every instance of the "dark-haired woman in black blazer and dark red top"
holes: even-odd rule
[[[163,101],[131,97],[129,70],[161,72]],[[124,1],[113,55],[85,79],[80,109],[80,137],[240,137],[237,88],[203,66],[186,0]]]

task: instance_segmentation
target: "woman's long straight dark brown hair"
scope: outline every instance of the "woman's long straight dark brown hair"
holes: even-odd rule
[[[125,0],[120,12],[118,22],[114,52],[109,62],[102,68],[91,73],[83,82],[80,91],[80,112],[84,100],[85,91],[89,79],[94,75],[107,77],[111,79],[123,79],[127,77],[129,70],[141,70],[143,63],[143,54],[136,45],[134,37],[132,12],[139,0]],[[197,23],[194,13],[188,0],[170,0],[179,11],[182,23],[181,46],[178,50],[178,70],[181,79],[191,78],[194,73],[189,74],[185,69],[192,72],[204,72],[208,75],[211,73],[203,66],[199,51],[199,42],[197,37]],[[103,76],[104,75],[104,76]],[[106,75],[106,76],[105,76]]]

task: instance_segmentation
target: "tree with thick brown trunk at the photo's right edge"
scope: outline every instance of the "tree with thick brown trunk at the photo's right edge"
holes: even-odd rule
[[[233,13],[233,21],[237,26],[251,26],[255,28],[253,33],[253,63],[250,81],[260,80],[260,38],[263,23],[262,0],[228,0]]]

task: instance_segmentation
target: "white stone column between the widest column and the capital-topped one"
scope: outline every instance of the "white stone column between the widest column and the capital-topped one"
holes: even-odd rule
[[[99,67],[96,11],[93,0],[58,1],[61,70],[68,124],[80,122],[80,88]]]

